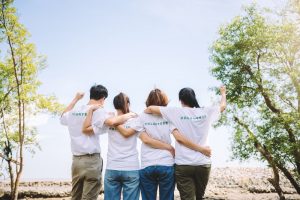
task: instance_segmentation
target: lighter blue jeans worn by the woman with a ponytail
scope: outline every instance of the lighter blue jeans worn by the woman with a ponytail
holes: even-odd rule
[[[107,169],[104,178],[104,200],[138,200],[140,196],[139,171],[120,171]]]

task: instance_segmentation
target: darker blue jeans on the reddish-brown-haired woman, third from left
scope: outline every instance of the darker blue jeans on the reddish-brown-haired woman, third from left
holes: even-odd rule
[[[173,200],[174,167],[155,165],[141,169],[140,186],[143,200],[156,200],[158,186],[160,200]]]

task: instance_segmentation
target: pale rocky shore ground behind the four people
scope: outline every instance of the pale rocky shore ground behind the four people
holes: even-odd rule
[[[205,196],[209,200],[278,199],[273,186],[267,180],[272,176],[272,171],[268,168],[212,168]],[[282,175],[280,178],[281,187],[286,194],[286,199],[299,200],[300,195],[296,193],[288,180]],[[0,181],[0,188],[4,188],[4,193],[7,194],[9,183],[7,181]],[[71,181],[28,180],[20,183],[20,198],[67,200],[70,197],[70,190]],[[103,199],[103,195],[99,195],[99,199]],[[175,199],[180,199],[177,190],[175,190]]]

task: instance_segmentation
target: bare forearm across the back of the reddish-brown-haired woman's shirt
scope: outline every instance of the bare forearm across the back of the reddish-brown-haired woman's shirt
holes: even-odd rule
[[[140,139],[146,145],[148,145],[154,149],[167,150],[172,154],[173,157],[175,157],[175,149],[174,149],[174,147],[172,147],[172,145],[164,143],[160,140],[153,139],[146,132],[143,132],[140,134]]]

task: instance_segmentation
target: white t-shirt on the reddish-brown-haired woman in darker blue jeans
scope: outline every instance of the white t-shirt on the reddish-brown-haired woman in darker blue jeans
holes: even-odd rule
[[[153,139],[171,144],[170,134],[175,127],[160,116],[142,113],[132,128],[139,133],[147,132]],[[141,168],[143,169],[153,165],[172,166],[174,165],[174,158],[167,150],[155,149],[142,143]]]

